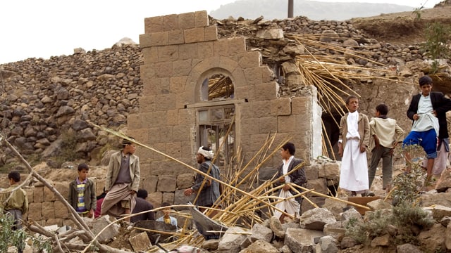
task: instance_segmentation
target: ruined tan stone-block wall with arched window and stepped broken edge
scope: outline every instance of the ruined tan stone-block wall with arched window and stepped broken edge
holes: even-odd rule
[[[223,170],[237,166],[237,150],[249,162],[268,134],[276,134],[277,145],[291,138],[296,156],[307,161],[321,155],[314,86],[308,96],[279,98],[276,74],[259,51],[247,50],[245,37],[218,39],[206,11],[146,18],[144,32],[140,110],[128,117],[128,134],[137,141],[190,166],[199,146],[210,145]],[[212,79],[223,84],[213,90]],[[150,200],[185,204],[193,171],[152,150],[138,148],[137,155]],[[279,163],[276,155],[264,167]]]

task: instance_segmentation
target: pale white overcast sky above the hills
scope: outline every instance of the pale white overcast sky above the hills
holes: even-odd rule
[[[0,8],[0,64],[103,50],[128,37],[139,43],[144,18],[214,11],[242,0],[9,0]],[[297,0],[294,0],[297,1]],[[441,0],[316,0],[432,8]],[[288,1],[287,1],[288,2]]]

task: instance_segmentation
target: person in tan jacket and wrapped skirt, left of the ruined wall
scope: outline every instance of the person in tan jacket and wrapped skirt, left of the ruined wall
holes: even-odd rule
[[[136,204],[135,194],[140,186],[140,158],[133,155],[136,148],[130,141],[124,139],[122,147],[121,151],[110,158],[101,215],[127,215]],[[125,221],[130,222],[130,218]]]

